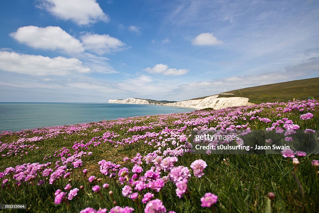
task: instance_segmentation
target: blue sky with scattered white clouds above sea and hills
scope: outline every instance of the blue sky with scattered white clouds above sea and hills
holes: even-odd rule
[[[187,100],[319,76],[318,1],[0,2],[0,100]]]

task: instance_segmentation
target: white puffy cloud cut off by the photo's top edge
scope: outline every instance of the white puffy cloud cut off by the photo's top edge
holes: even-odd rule
[[[109,21],[96,0],[39,0],[37,6],[49,11],[52,15],[72,20],[78,25],[89,25],[98,20]]]

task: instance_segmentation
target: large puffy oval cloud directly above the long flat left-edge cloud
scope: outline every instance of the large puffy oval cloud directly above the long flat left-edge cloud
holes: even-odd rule
[[[14,39],[33,48],[48,50],[63,50],[67,53],[84,51],[81,42],[65,32],[60,27],[20,27],[17,32],[11,33]]]

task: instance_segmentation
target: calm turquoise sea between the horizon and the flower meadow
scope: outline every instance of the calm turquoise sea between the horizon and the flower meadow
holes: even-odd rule
[[[0,103],[0,131],[190,111],[194,109],[141,104]]]

